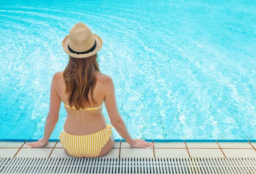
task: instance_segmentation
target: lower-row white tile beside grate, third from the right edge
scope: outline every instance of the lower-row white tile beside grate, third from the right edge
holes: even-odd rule
[[[156,157],[189,157],[186,149],[154,149],[154,152]]]

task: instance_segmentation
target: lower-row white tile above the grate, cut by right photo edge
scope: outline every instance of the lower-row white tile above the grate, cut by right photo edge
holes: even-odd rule
[[[256,151],[254,149],[222,149],[226,157],[244,157],[255,158]]]

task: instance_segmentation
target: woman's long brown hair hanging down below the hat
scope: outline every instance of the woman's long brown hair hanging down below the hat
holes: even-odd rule
[[[93,89],[96,84],[96,72],[100,72],[97,62],[97,53],[86,58],[74,58],[69,56],[69,62],[63,72],[66,83],[67,100],[69,106],[76,107],[76,110],[85,108],[85,101],[90,104],[88,95],[90,91],[93,104]],[[85,99],[85,100],[84,100]]]

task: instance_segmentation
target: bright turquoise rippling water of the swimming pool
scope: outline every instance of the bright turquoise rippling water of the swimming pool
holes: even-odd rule
[[[52,76],[68,61],[61,41],[76,22],[102,37],[100,69],[133,138],[256,139],[255,9],[254,0],[1,0],[0,139],[42,138]],[[65,115],[61,103],[52,139]]]

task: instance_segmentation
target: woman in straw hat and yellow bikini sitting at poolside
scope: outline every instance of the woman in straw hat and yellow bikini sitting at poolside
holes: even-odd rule
[[[116,106],[111,77],[100,73],[97,52],[102,39],[92,34],[84,23],[77,23],[62,41],[69,62],[64,71],[55,73],[51,84],[50,108],[44,138],[27,143],[31,148],[45,146],[58,121],[61,101],[67,118],[59,135],[67,154],[73,157],[101,157],[113,147],[114,135],[102,113],[105,107],[111,124],[132,147],[149,148],[154,143],[132,139]]]

